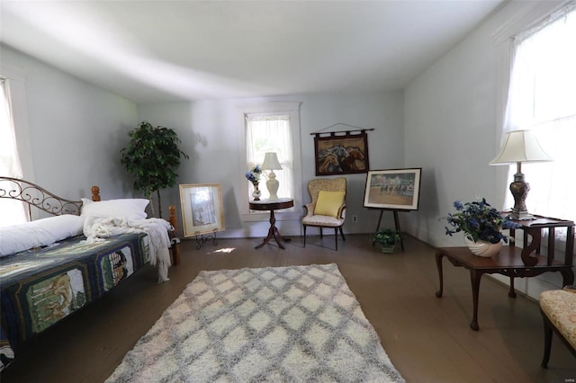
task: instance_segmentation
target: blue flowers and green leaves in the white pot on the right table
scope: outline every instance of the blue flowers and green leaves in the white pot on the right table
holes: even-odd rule
[[[463,231],[465,236],[474,242],[482,240],[498,244],[500,240],[508,242],[508,237],[501,232],[502,229],[522,227],[508,218],[503,218],[484,198],[466,203],[456,200],[454,207],[457,210],[455,214],[441,218],[446,219],[451,226],[446,227],[447,236]]]

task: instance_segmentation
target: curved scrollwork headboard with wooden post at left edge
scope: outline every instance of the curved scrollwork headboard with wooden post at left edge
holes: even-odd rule
[[[0,198],[22,200],[28,204],[28,216],[31,217],[31,208],[37,208],[51,215],[62,214],[80,215],[81,200],[67,200],[46,189],[18,178],[0,176]],[[92,200],[100,200],[100,188],[92,187]]]

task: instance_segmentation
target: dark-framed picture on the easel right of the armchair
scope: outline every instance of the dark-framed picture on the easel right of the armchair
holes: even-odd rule
[[[421,173],[422,168],[369,171],[364,207],[418,210]]]

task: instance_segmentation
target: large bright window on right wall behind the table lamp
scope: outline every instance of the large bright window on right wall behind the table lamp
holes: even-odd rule
[[[528,210],[572,220],[576,219],[575,46],[575,2],[514,38],[505,123],[507,131],[531,129],[554,158],[553,163],[522,167],[530,183]]]

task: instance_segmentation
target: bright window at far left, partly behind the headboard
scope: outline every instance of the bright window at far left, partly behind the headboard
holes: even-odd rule
[[[22,178],[22,166],[16,147],[8,80],[0,77],[0,174]],[[0,227],[26,221],[23,204],[17,200],[0,200],[2,215]]]

